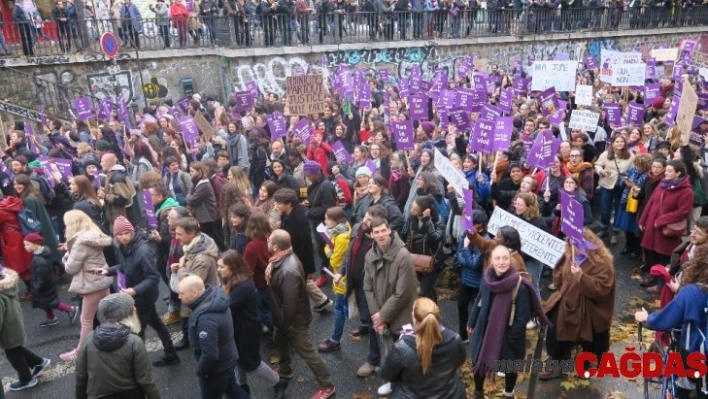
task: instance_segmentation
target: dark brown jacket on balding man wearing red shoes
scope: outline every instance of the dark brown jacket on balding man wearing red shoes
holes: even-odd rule
[[[279,329],[310,325],[312,312],[306,279],[300,260],[293,252],[273,263],[270,277],[270,311],[273,324]]]

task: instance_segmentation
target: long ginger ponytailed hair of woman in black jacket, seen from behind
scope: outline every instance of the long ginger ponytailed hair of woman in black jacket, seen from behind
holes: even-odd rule
[[[413,302],[413,318],[416,322],[415,350],[425,375],[433,362],[433,349],[442,342],[440,308],[429,298],[418,298]]]

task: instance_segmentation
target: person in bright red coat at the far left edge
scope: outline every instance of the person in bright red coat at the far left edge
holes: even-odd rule
[[[2,249],[3,265],[20,275],[29,293],[32,254],[24,249],[22,228],[17,219],[17,214],[24,207],[22,200],[16,197],[5,197],[0,200],[0,249]],[[28,300],[30,297],[25,294],[21,298]]]

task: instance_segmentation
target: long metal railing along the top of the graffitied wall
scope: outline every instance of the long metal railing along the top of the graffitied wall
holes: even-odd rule
[[[443,9],[435,11],[349,12],[303,16],[217,16],[160,25],[111,20],[6,23],[4,46],[12,56],[62,56],[100,53],[99,38],[112,32],[121,51],[164,48],[229,48],[435,40],[499,35],[534,35],[573,31],[645,30],[708,25],[708,6],[689,8],[548,8],[533,3],[523,9]],[[3,48],[5,47],[5,48]]]

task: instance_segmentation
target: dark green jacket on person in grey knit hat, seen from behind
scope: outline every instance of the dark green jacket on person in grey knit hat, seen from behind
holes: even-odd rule
[[[160,399],[143,340],[128,327],[102,324],[91,331],[76,358],[76,397],[98,399],[141,388]]]

